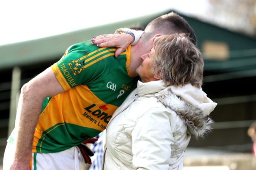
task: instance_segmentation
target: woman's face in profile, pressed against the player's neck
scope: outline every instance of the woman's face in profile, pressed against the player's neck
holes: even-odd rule
[[[150,53],[142,55],[141,56],[142,63],[136,69],[136,73],[138,73],[139,77],[141,77],[143,82],[150,82],[150,81],[158,80],[157,77],[150,71],[150,66],[151,66],[151,63],[153,60],[154,53],[155,53],[155,49],[152,48],[150,50]]]

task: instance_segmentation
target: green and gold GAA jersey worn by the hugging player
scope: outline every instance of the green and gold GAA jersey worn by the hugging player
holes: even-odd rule
[[[115,50],[85,41],[52,66],[65,92],[43,101],[32,152],[59,152],[106,129],[138,80],[128,69],[130,46],[118,58]]]

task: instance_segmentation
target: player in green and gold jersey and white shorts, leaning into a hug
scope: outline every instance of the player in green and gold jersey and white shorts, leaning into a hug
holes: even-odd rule
[[[134,90],[140,56],[149,53],[155,37],[184,32],[196,42],[187,22],[170,13],[150,22],[138,43],[118,51],[118,58],[113,57],[115,48],[102,48],[108,37],[93,41],[105,42],[98,46],[85,41],[67,49],[61,60],[22,87],[4,169],[9,160],[12,170],[79,169],[82,159],[75,146],[102,132]]]

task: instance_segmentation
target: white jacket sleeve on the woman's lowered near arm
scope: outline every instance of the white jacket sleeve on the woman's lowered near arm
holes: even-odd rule
[[[134,170],[167,170],[174,143],[171,113],[154,108],[140,117],[132,132]]]

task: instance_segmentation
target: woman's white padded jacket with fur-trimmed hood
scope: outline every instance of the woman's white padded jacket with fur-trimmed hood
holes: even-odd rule
[[[106,128],[102,169],[182,170],[191,135],[210,130],[208,115],[216,105],[191,84],[139,81]]]

